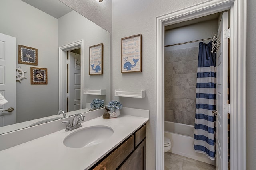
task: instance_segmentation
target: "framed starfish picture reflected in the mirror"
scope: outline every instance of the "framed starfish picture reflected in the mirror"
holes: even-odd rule
[[[18,63],[37,66],[37,49],[18,45]]]

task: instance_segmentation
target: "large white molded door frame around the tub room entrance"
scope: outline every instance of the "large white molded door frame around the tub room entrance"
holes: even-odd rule
[[[246,170],[246,0],[208,0],[156,18],[156,169],[164,170],[164,27],[230,9],[230,169]]]

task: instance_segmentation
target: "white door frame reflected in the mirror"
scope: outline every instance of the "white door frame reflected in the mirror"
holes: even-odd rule
[[[67,64],[67,55],[68,51],[81,48],[81,74],[84,72],[84,41],[76,41],[74,43],[70,43],[67,45],[63,45],[59,47],[59,110],[63,110],[67,112],[67,72],[66,72],[66,64]],[[83,94],[82,87],[84,84],[84,77],[81,75],[81,107],[83,103]]]

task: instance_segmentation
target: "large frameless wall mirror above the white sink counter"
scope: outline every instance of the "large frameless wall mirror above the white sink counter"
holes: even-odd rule
[[[0,93],[8,100],[0,106],[0,134],[63,118],[62,114],[57,115],[59,110],[67,116],[74,115],[77,109],[89,111],[94,98],[110,101],[108,31],[59,0],[2,0],[0,3],[0,53],[4,37],[11,36],[16,41],[8,49],[16,51],[12,62],[0,63]],[[89,47],[101,43],[104,74],[89,75]],[[47,68],[47,84],[31,84],[31,65],[18,63],[18,45],[38,50],[38,64],[33,67]],[[11,67],[14,69],[9,74],[4,68]],[[16,68],[24,70],[26,78],[16,81],[15,76],[10,77],[18,74]],[[84,89],[106,89],[106,94],[83,94]],[[9,107],[14,111],[6,111]]]

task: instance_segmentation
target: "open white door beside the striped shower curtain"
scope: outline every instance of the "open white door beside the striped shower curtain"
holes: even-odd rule
[[[223,13],[218,30],[221,44],[217,52],[217,170],[228,169],[228,115],[224,113],[224,105],[228,103],[228,39],[224,38],[225,29],[228,29],[228,12]]]

